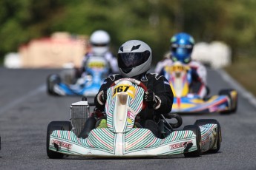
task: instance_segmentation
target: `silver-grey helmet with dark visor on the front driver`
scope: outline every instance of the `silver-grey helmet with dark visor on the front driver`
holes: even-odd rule
[[[121,75],[132,78],[150,69],[152,51],[145,42],[130,40],[119,47],[117,61]]]

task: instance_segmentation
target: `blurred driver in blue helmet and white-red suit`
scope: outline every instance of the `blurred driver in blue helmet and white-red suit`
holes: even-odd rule
[[[171,54],[158,62],[155,72],[163,75],[163,68],[171,66],[175,61],[180,61],[183,64],[191,67],[192,84],[191,91],[206,98],[209,94],[209,88],[206,84],[206,67],[198,61],[191,59],[191,53],[194,47],[194,38],[187,33],[177,33],[171,37]]]

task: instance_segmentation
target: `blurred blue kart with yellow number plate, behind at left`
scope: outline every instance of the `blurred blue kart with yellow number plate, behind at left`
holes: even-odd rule
[[[66,84],[61,76],[52,74],[47,77],[47,92],[49,95],[81,95],[94,96],[107,78],[109,67],[102,57],[93,56],[85,65],[85,74],[76,79],[74,84]]]

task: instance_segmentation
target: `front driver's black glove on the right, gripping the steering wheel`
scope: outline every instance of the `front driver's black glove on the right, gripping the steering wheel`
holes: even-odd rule
[[[158,109],[160,107],[160,98],[157,95],[154,95],[154,92],[151,89],[148,89],[144,94],[144,100],[148,103],[149,109]]]

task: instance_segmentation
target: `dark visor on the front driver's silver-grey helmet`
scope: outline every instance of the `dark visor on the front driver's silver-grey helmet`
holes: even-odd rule
[[[121,69],[130,69],[133,67],[140,66],[141,64],[148,61],[150,52],[125,52],[117,55],[118,67]]]

